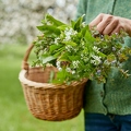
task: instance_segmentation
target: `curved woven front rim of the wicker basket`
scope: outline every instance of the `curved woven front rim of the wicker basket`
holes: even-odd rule
[[[52,83],[39,83],[39,82],[34,82],[31,80],[27,80],[25,78],[25,74],[27,73],[27,70],[21,70],[20,74],[19,74],[19,80],[21,83],[26,84],[28,86],[33,86],[33,87],[45,87],[45,88],[66,88],[67,86],[76,86],[80,83],[85,83],[88,79],[83,79],[82,81],[74,81],[72,82],[70,85],[67,84],[52,84]]]

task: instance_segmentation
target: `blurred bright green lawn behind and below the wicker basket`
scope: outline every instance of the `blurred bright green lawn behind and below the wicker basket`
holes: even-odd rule
[[[26,45],[0,45],[0,131],[84,131],[83,111],[62,122],[31,115],[17,79],[26,49]]]

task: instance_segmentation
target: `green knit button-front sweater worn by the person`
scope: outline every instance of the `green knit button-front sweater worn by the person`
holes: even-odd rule
[[[80,0],[78,14],[85,14],[90,23],[99,13],[108,13],[131,19],[131,0]],[[131,47],[131,37],[126,38],[126,45]],[[123,68],[131,73],[131,58]],[[88,81],[85,90],[85,112],[131,114],[131,76],[124,79],[117,69],[112,69],[105,84]]]

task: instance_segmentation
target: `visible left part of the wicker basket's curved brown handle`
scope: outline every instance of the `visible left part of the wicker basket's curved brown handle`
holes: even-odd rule
[[[31,50],[33,49],[33,47],[34,47],[34,44],[31,44],[25,52],[24,59],[22,61],[22,69],[24,69],[24,70],[28,70],[28,68],[29,68],[27,60],[28,60],[28,57],[29,57],[29,53],[31,53]]]

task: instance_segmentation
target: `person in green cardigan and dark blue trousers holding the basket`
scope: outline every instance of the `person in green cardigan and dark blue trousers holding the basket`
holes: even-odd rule
[[[85,14],[84,21],[103,35],[124,29],[129,36],[124,45],[131,47],[131,0],[80,0],[76,17]],[[123,69],[131,74],[131,57]],[[88,81],[84,102],[85,131],[131,131],[131,75],[123,79],[118,69],[112,69],[106,83]]]

